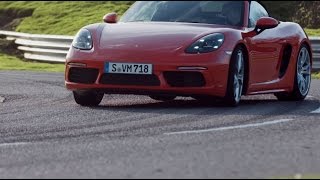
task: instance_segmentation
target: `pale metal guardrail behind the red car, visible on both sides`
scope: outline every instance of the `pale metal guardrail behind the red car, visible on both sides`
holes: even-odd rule
[[[73,36],[27,34],[0,31],[7,40],[15,41],[26,59],[64,63]],[[320,70],[320,37],[309,37],[313,48],[314,70]]]

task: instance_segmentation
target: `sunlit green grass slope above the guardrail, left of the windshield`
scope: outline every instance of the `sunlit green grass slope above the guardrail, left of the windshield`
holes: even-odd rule
[[[120,16],[132,1],[1,1],[0,10],[33,9],[16,31],[37,34],[75,35],[83,26],[102,22],[109,12]]]

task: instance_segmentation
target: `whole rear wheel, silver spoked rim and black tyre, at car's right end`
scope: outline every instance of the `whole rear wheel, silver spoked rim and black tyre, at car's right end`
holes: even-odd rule
[[[310,90],[311,85],[311,58],[306,45],[302,45],[296,64],[293,91],[291,93],[276,93],[280,101],[302,101]]]

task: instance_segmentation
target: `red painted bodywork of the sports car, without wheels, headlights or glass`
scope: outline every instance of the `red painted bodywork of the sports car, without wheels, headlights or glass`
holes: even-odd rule
[[[242,28],[192,23],[132,22],[94,24],[84,27],[93,38],[91,50],[71,47],[67,55],[65,84],[69,90],[103,89],[121,93],[142,91],[174,93],[177,95],[212,95],[224,97],[227,90],[229,62],[236,46],[245,47],[248,55],[248,79],[246,95],[291,92],[296,72],[296,60],[303,43],[310,42],[303,29],[295,23],[281,22],[273,29],[260,34],[247,28],[249,3],[245,3]],[[185,49],[201,37],[223,33],[225,42],[216,51],[204,54],[187,54]],[[286,46],[292,47],[286,73],[279,77],[282,54]],[[310,50],[311,54],[311,50]],[[99,79],[104,74],[105,62],[150,63],[153,74],[158,76],[160,86],[105,85]],[[73,83],[68,79],[70,63],[84,63],[87,68],[99,69],[93,84]],[[163,77],[164,71],[182,71],[178,67],[206,67],[197,70],[205,78],[204,87],[171,87]],[[185,70],[184,70],[185,71]],[[195,70],[193,70],[195,71]]]

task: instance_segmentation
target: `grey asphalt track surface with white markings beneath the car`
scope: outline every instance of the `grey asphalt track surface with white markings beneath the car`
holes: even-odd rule
[[[0,178],[270,178],[320,174],[320,81],[303,102],[105,95],[77,105],[61,73],[0,71]]]

